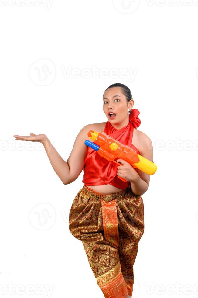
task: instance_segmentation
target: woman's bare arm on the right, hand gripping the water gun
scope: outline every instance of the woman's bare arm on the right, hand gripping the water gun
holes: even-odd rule
[[[152,142],[145,133],[142,133],[139,151],[141,152],[141,156],[153,161]],[[136,171],[127,161],[124,161],[123,159],[118,159],[117,161],[123,164],[118,166],[118,176],[121,176],[131,182],[131,190],[135,195],[143,195],[149,188],[150,175],[140,171],[139,169]]]

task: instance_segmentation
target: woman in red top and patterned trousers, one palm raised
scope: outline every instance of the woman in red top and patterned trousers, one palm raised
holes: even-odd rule
[[[69,229],[74,237],[82,241],[97,285],[107,298],[132,296],[133,265],[138,242],[144,233],[141,195],[149,187],[150,176],[122,159],[115,159],[121,165],[106,160],[87,147],[84,141],[88,139],[89,130],[104,131],[152,161],[152,142],[146,134],[137,130],[141,121],[139,111],[132,109],[133,105],[127,86],[119,83],[109,86],[103,95],[103,111],[108,121],[84,126],[77,135],[67,162],[46,135],[14,135],[16,140],[41,142],[54,171],[64,184],[75,181],[84,171],[84,185],[70,209]]]

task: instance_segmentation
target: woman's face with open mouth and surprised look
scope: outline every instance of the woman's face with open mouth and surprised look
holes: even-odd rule
[[[126,119],[128,121],[128,109],[132,109],[133,104],[133,99],[127,102],[126,96],[119,87],[112,87],[104,92],[103,111],[112,124],[122,123]],[[115,116],[111,117],[109,113],[114,113]]]

